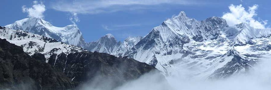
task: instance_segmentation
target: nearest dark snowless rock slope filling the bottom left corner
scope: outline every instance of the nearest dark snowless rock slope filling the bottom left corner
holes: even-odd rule
[[[0,89],[67,90],[75,88],[74,83],[67,76],[44,62],[43,55],[34,54],[32,57],[20,46],[11,44],[6,39],[0,39]]]

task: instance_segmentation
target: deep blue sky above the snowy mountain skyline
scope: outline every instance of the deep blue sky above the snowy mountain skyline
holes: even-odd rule
[[[258,22],[251,25],[269,28],[270,3],[269,0],[4,0],[0,5],[0,25],[27,18],[30,12],[22,8],[42,4],[45,6],[44,20],[58,27],[77,24],[86,42],[96,41],[108,33],[123,41],[128,36],[145,36],[153,27],[180,11],[197,20],[223,16],[232,24]],[[239,13],[242,15],[238,16]]]

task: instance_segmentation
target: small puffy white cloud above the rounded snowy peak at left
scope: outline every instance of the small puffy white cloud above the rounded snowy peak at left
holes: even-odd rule
[[[45,11],[45,5],[41,1],[33,1],[33,6],[27,8],[25,5],[22,7],[24,13],[28,13],[28,17],[39,17],[44,18],[43,12]]]

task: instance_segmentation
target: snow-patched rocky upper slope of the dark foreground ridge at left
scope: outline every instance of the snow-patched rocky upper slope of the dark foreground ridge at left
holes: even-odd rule
[[[34,53],[44,54],[46,59],[48,59],[52,54],[58,55],[61,53],[69,54],[87,51],[74,45],[58,42],[55,39],[29,33],[23,30],[2,28],[0,29],[0,38],[7,39],[8,42],[22,46],[24,51],[29,55],[33,55]]]

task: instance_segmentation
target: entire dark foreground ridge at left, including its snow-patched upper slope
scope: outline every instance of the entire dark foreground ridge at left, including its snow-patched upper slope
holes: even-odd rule
[[[0,38],[0,89],[78,89],[85,83],[100,83],[93,82],[97,76],[111,79],[115,88],[159,72],[132,58],[89,52],[27,31],[1,27]]]

